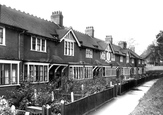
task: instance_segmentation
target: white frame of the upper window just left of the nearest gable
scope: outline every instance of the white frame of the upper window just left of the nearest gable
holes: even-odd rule
[[[38,38],[38,37],[35,37],[36,38],[36,42],[35,42],[35,49],[33,48],[33,38],[35,36],[31,36],[31,51],[37,51],[37,52],[46,52],[46,45],[47,45],[47,41],[45,39],[42,39],[42,38]],[[38,39],[40,39],[40,47],[39,47],[39,50],[38,50]],[[43,46],[42,46],[42,40],[45,40],[45,50],[42,50]]]

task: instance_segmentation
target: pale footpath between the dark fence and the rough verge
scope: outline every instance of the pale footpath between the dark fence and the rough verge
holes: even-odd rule
[[[143,97],[157,80],[152,80],[132,89],[122,96],[118,96],[111,102],[101,106],[89,115],[129,115],[138,105],[139,99]]]

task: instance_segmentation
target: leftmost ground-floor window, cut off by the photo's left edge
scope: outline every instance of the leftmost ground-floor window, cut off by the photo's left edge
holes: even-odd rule
[[[0,85],[19,84],[19,62],[0,60]]]

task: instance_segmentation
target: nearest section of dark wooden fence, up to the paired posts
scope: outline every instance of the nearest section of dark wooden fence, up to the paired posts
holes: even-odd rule
[[[114,88],[98,92],[64,106],[63,115],[82,115],[114,97]],[[73,111],[73,112],[72,112]]]

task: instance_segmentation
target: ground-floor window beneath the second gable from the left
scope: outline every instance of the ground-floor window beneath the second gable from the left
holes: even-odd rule
[[[116,76],[116,67],[110,67],[110,66],[106,66],[103,67],[102,69],[102,73],[103,73],[103,77],[112,77],[112,76]]]

